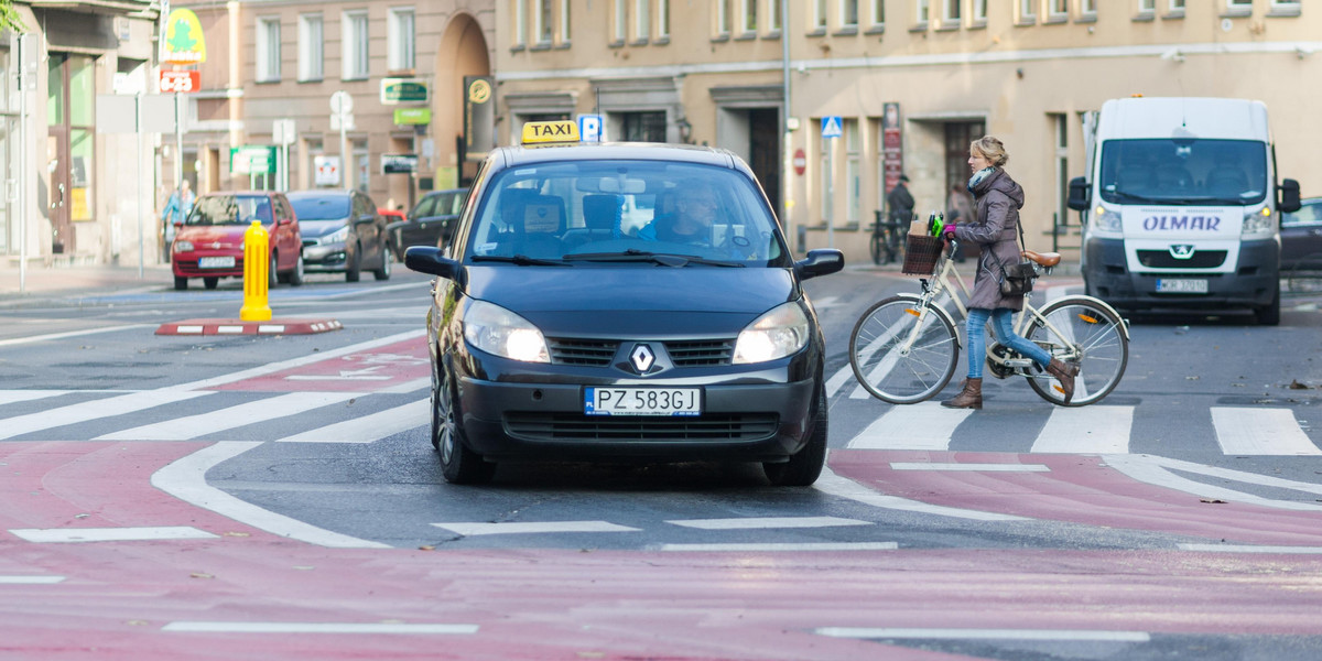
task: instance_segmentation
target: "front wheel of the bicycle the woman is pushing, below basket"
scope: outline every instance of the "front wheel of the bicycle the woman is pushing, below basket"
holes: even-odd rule
[[[906,345],[912,340],[912,345]],[[863,313],[849,336],[849,364],[873,397],[912,405],[939,393],[960,358],[954,327],[917,296],[884,299]]]

